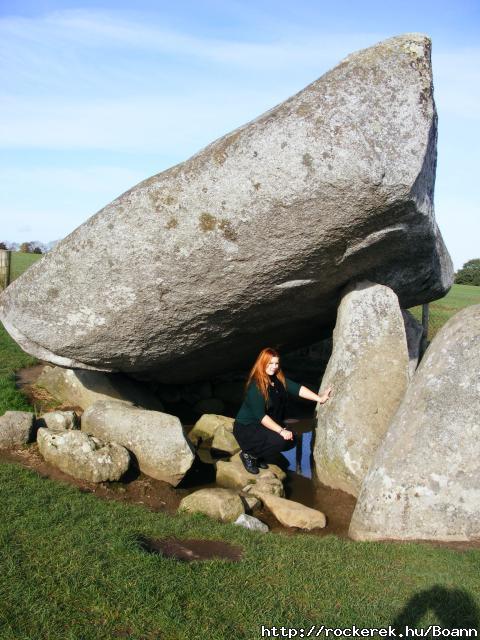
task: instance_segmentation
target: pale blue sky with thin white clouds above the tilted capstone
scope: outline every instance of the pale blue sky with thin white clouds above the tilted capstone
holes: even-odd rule
[[[349,53],[421,32],[458,268],[480,257],[479,25],[478,0],[0,0],[0,240],[61,238]]]

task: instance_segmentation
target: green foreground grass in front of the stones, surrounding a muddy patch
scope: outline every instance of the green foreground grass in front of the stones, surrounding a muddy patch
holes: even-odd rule
[[[215,640],[259,638],[262,624],[478,622],[480,550],[255,534],[102,501],[13,464],[0,465],[0,487],[1,638]],[[142,551],[138,535],[222,539],[244,557],[180,563]]]

